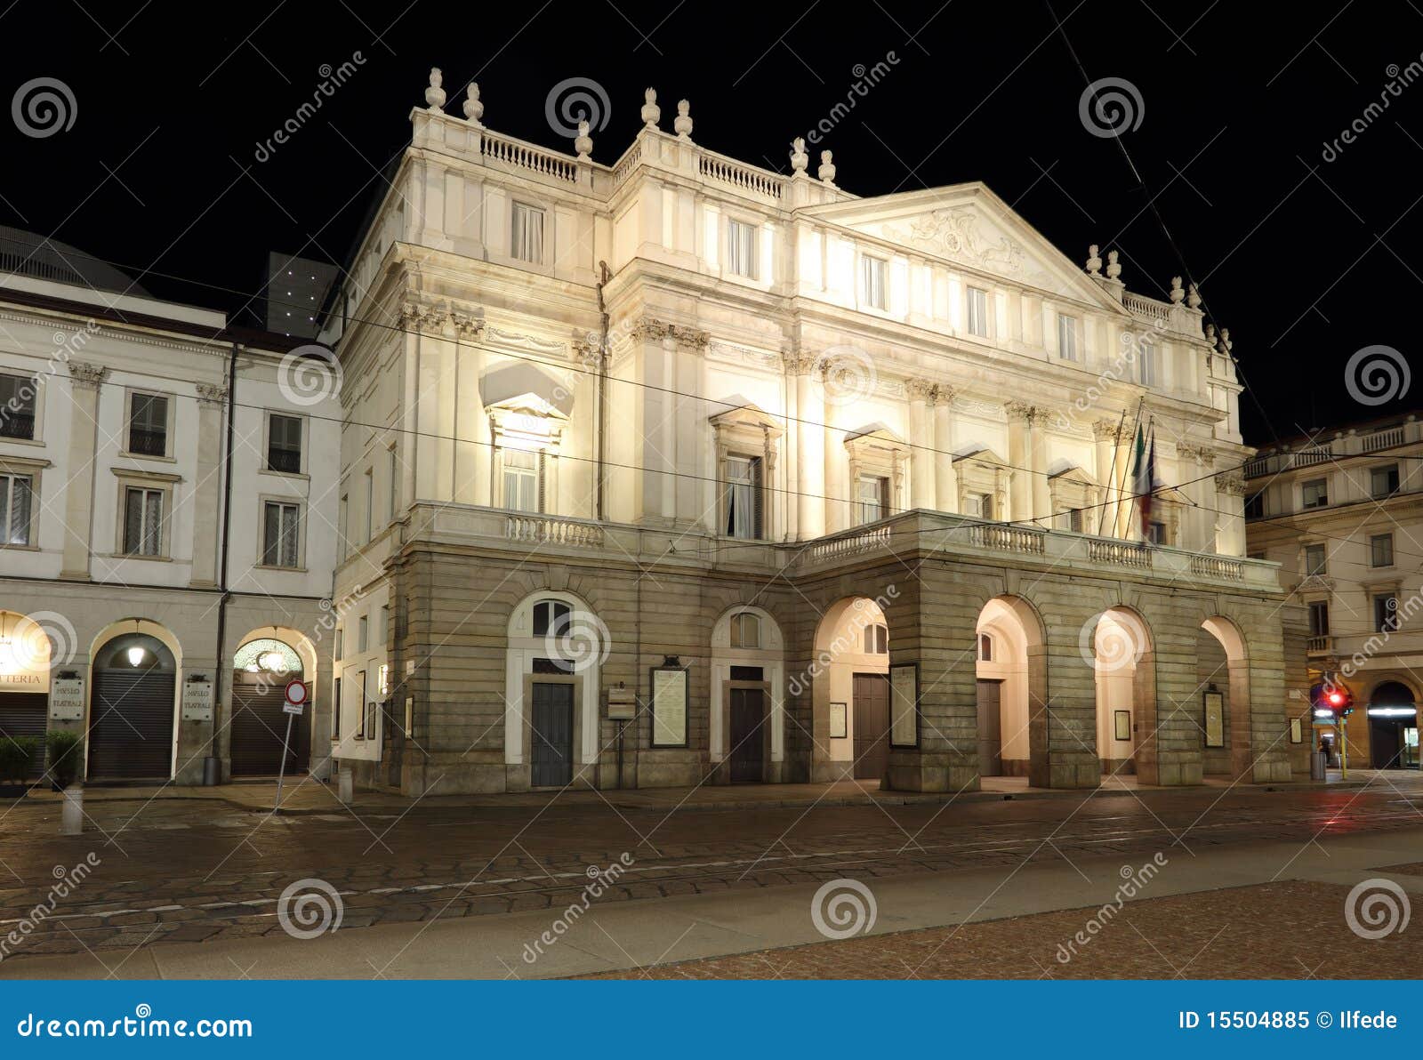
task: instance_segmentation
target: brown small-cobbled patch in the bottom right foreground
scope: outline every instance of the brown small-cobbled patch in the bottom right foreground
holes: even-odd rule
[[[1390,869],[1395,871],[1395,869]],[[1363,939],[1346,886],[1294,881],[1131,902],[1076,955],[1096,909],[657,965],[588,979],[1417,979],[1423,946]],[[1325,932],[1319,925],[1328,922]],[[1248,1006],[1248,997],[1235,999]]]

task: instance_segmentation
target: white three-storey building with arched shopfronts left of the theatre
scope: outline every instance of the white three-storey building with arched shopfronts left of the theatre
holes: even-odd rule
[[[329,697],[323,369],[50,239],[0,266],[0,730],[83,728],[91,780],[275,773],[282,683]]]

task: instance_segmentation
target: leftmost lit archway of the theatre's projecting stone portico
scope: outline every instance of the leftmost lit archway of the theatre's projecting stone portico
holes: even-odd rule
[[[889,768],[889,627],[879,605],[854,596],[815,629],[811,660],[814,780],[884,780]]]

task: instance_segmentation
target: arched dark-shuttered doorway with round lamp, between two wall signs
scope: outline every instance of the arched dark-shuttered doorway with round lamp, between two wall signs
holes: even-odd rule
[[[120,633],[104,643],[90,694],[90,780],[172,775],[176,689],[178,660],[157,636]]]

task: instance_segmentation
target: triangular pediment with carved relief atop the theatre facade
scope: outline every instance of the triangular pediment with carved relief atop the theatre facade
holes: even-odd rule
[[[854,199],[804,212],[973,272],[1126,313],[1076,262],[982,184]]]

